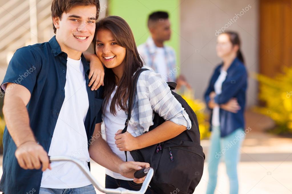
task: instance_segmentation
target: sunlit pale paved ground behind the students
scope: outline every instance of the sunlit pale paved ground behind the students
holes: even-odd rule
[[[262,115],[247,111],[246,128],[250,131],[241,148],[241,161],[238,165],[240,194],[292,194],[292,138],[279,137],[265,132],[273,122]],[[209,140],[202,140],[206,157]],[[207,158],[206,158],[206,161]],[[201,182],[194,193],[206,193],[208,184],[208,163]],[[1,167],[2,171],[2,167]],[[0,171],[0,173],[2,173]],[[91,172],[104,185],[105,169],[95,162]],[[215,194],[228,194],[229,181],[225,164],[221,162],[218,170],[218,184]],[[101,192],[97,192],[101,193]]]

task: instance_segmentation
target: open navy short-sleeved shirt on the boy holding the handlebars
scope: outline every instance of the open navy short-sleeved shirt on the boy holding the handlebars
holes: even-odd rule
[[[95,124],[102,121],[102,87],[91,91],[88,86],[89,66],[83,55],[81,55],[81,61],[84,67],[89,100],[89,109],[84,122],[89,141]],[[8,65],[3,81],[3,83],[20,84],[31,93],[30,101],[27,104],[30,126],[36,140],[46,152],[49,151],[58,115],[65,99],[63,90],[66,83],[66,70],[67,54],[61,51],[54,36],[49,42],[18,49]],[[13,90],[13,88],[6,88],[6,92],[9,90]],[[19,130],[21,131],[21,129]],[[66,141],[65,137],[64,141]],[[6,127],[3,135],[3,146],[3,175],[0,190],[13,194],[30,193],[34,190],[34,193],[39,193],[42,178],[41,169],[25,170],[18,165],[14,155],[16,146]]]

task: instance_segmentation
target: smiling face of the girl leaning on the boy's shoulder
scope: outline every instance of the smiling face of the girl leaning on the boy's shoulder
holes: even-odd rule
[[[126,48],[117,44],[109,29],[100,29],[96,34],[96,55],[107,68],[121,65],[126,56]]]

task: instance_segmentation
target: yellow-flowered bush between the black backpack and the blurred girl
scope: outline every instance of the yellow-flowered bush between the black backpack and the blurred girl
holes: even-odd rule
[[[190,105],[190,107],[193,109],[193,111],[197,115],[201,139],[209,137],[210,136],[210,132],[209,132],[210,124],[208,121],[208,115],[204,112],[205,107],[206,107],[205,103],[199,99],[194,99],[194,97],[192,97],[190,91],[184,92],[184,94],[181,96],[183,97],[183,99],[185,99],[187,104]]]

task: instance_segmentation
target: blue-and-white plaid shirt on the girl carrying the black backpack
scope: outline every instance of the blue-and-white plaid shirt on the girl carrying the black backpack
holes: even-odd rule
[[[192,127],[189,115],[180,102],[171,94],[165,79],[153,69],[140,74],[137,81],[135,101],[129,125],[137,136],[142,135],[153,125],[154,113],[158,113],[164,120],[170,120],[187,129]],[[126,112],[127,114],[127,112]]]

